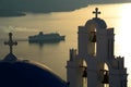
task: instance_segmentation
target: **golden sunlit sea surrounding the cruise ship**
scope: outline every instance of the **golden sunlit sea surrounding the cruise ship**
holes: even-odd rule
[[[131,86],[131,3],[88,4],[69,12],[26,13],[26,16],[0,17],[0,60],[9,53],[9,33],[13,33],[13,53],[21,60],[31,60],[50,67],[58,76],[67,79],[69,50],[78,49],[78,27],[84,26],[95,15],[95,8],[102,12],[108,27],[115,28],[115,55],[124,57],[128,70],[128,86]],[[66,35],[66,40],[55,44],[29,44],[28,36],[39,32]]]

